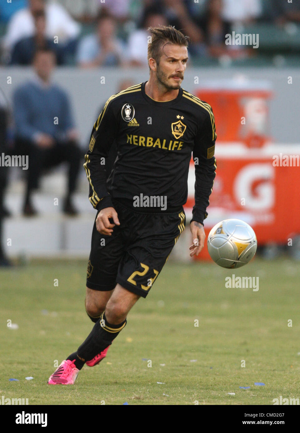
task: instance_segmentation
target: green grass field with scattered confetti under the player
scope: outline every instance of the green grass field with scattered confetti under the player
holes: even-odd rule
[[[72,405],[272,405],[280,395],[300,397],[300,267],[287,258],[255,258],[234,271],[168,262],[107,357],[85,366],[75,385],[47,385],[55,360],[75,351],[92,328],[86,265],[47,260],[0,270],[0,396]],[[232,274],[259,277],[259,291],[225,288]]]

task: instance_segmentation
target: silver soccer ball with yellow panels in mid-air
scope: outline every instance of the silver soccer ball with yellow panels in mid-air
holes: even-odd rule
[[[212,260],[222,268],[241,268],[257,249],[254,230],[241,220],[224,220],[216,224],[207,239]]]

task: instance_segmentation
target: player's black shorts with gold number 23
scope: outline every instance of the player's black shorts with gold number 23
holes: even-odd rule
[[[119,283],[146,297],[184,230],[186,215],[183,208],[175,213],[143,213],[113,202],[120,226],[108,236],[99,233],[94,223],[86,285],[110,291]]]

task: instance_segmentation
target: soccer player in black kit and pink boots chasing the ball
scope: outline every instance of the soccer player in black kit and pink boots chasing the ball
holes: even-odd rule
[[[216,169],[214,116],[208,103],[180,86],[189,37],[172,26],[149,31],[149,80],[108,99],[85,155],[89,200],[98,210],[85,299],[95,326],[49,384],[74,384],[85,363],[98,364],[130,309],[147,297],[186,223],[191,154],[196,183],[190,255],[204,246],[203,220]],[[117,158],[106,181],[104,162],[114,140]]]

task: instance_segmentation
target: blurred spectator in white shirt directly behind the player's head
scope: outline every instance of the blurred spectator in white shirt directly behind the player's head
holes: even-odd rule
[[[132,32],[128,39],[128,58],[132,66],[148,65],[148,27],[167,26],[163,10],[158,6],[150,6],[143,12],[140,29]]]

